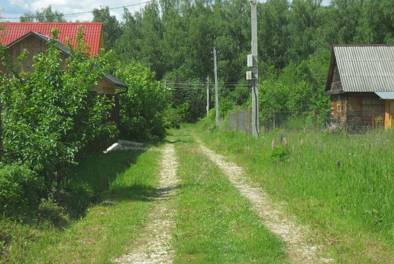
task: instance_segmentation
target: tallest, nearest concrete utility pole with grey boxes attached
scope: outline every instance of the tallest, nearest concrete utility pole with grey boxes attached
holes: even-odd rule
[[[257,0],[250,0],[252,18],[252,135],[258,137]]]

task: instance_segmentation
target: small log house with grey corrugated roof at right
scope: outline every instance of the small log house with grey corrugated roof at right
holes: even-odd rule
[[[394,45],[334,45],[325,94],[341,128],[394,126]]]

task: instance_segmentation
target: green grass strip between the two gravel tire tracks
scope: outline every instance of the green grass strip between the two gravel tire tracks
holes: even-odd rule
[[[182,130],[170,133],[181,180],[174,262],[287,262],[281,241],[262,226],[249,202],[193,138]]]

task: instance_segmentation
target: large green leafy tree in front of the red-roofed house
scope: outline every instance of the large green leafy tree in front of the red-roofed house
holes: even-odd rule
[[[114,123],[103,122],[112,104],[104,95],[91,92],[102,78],[105,56],[87,57],[88,47],[82,28],[71,56],[61,67],[57,44],[58,30],[46,53],[34,56],[34,70],[17,74],[18,65],[7,58],[1,46],[2,62],[8,74],[0,80],[4,157],[7,163],[29,164],[45,178],[48,190],[56,182],[57,198],[66,172],[76,163],[76,155],[87,143],[103,135],[113,135]],[[27,51],[18,57],[23,63]],[[97,65],[96,69],[94,69]]]

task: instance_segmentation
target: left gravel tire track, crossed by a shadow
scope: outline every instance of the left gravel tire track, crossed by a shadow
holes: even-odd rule
[[[170,203],[176,194],[178,162],[173,144],[163,149],[160,182],[154,205],[148,215],[148,223],[136,248],[129,255],[113,259],[115,263],[172,263],[174,251],[171,246],[171,231],[175,227],[175,214]]]

